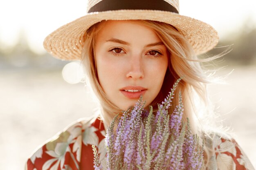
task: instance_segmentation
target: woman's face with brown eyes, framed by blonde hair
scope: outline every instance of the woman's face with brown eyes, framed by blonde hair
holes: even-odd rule
[[[132,21],[107,21],[96,38],[99,83],[122,110],[139,96],[148,106],[159,93],[168,65],[166,46],[155,32]]]

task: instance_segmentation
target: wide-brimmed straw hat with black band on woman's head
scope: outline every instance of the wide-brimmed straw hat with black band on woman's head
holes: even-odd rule
[[[46,51],[62,60],[81,60],[86,30],[102,20],[153,20],[173,25],[196,54],[212,49],[218,33],[202,21],[179,15],[178,0],[88,0],[87,14],[49,34]]]

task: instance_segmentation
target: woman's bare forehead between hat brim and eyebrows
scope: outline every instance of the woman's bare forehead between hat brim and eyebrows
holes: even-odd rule
[[[108,20],[100,26],[97,41],[117,38],[130,43],[139,41],[141,43],[153,43],[161,41],[155,31],[134,20]]]

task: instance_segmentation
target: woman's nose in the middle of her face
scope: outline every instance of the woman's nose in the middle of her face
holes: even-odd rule
[[[141,57],[131,57],[128,68],[126,77],[131,79],[141,79],[144,77],[144,68]]]

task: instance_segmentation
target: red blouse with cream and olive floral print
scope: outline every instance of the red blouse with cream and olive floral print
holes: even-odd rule
[[[80,120],[40,147],[27,160],[26,170],[94,170],[92,144],[106,167],[105,133],[99,119]],[[236,141],[214,137],[206,146],[215,150],[208,170],[254,170]]]

